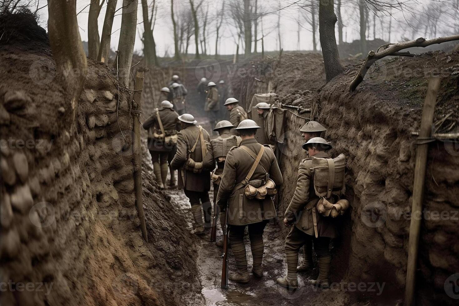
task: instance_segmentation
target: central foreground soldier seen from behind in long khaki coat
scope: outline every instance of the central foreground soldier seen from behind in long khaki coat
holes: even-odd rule
[[[217,205],[220,211],[228,209],[227,222],[231,225],[229,241],[237,273],[229,279],[239,283],[250,280],[244,245],[246,225],[253,256],[252,273],[263,277],[263,231],[268,220],[276,217],[270,193],[264,188],[272,191],[275,185],[282,184],[282,174],[273,151],[254,138],[257,128],[260,127],[251,119],[243,120],[236,128],[242,140],[239,147],[232,147],[226,156],[217,195]]]

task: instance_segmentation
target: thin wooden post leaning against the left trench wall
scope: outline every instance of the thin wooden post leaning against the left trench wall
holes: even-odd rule
[[[132,101],[132,119],[134,120],[134,138],[132,139],[132,153],[134,155],[134,190],[135,206],[140,219],[140,228],[145,242],[148,242],[146,233],[145,215],[143,211],[142,197],[142,148],[140,145],[140,109],[141,93],[143,89],[145,68],[139,68],[135,73],[134,98]]]

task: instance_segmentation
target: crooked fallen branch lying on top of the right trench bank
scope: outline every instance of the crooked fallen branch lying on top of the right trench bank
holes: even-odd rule
[[[399,52],[400,50],[411,48],[411,47],[427,47],[430,45],[441,44],[447,41],[459,40],[459,35],[451,35],[446,37],[438,37],[434,39],[426,40],[425,38],[418,38],[416,40],[405,41],[398,44],[387,44],[383,45],[375,51],[369,51],[367,58],[364,61],[362,67],[358,71],[357,75],[353,79],[353,81],[349,84],[349,90],[354,91],[358,84],[360,84],[365,74],[367,73],[369,67],[373,65],[373,63],[377,60],[380,60],[386,56],[414,56],[409,52]],[[381,50],[380,50],[381,49]]]

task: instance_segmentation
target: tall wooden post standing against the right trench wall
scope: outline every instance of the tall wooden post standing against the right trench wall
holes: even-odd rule
[[[441,78],[431,77],[424,108],[422,110],[419,139],[431,137],[432,122],[437,103],[437,91]],[[413,204],[411,206],[411,223],[409,226],[408,266],[406,271],[405,306],[414,304],[414,284],[416,280],[416,264],[418,261],[419,233],[422,217],[422,200],[424,193],[425,166],[429,144],[418,144],[414,166]]]

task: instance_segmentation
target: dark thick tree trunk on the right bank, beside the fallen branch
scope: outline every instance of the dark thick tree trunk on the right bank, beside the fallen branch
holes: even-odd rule
[[[320,0],[319,2],[319,37],[322,54],[324,56],[325,77],[327,82],[344,71],[336,46],[335,37],[336,15],[333,10],[333,1]]]

